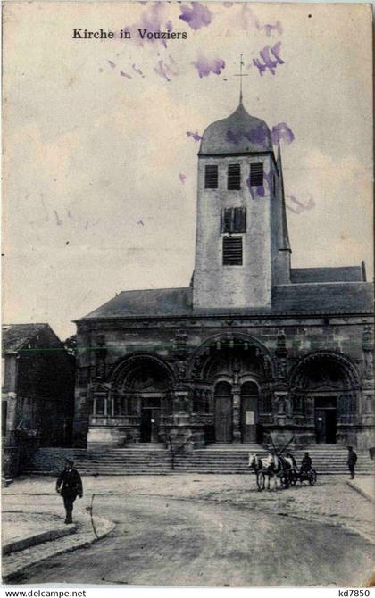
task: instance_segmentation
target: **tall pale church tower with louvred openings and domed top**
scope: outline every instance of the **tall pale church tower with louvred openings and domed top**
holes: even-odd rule
[[[242,102],[204,131],[198,154],[194,308],[271,309],[290,281],[281,158]]]

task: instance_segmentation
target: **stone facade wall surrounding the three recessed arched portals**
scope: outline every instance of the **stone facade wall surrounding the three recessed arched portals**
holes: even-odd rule
[[[75,445],[85,446],[90,414],[90,393],[96,385],[111,384],[112,371],[117,364],[130,355],[153,354],[172,372],[173,392],[189,392],[196,384],[196,367],[204,359],[205,347],[220,338],[244,336],[254,338],[270,356],[272,365],[271,395],[272,411],[265,428],[281,440],[296,436],[297,444],[315,442],[313,413],[296,415],[290,407],[290,380],[298,364],[310,353],[344,355],[360,380],[358,406],[355,417],[346,426],[337,428],[337,440],[361,444],[367,448],[375,444],[373,438],[374,416],[373,374],[371,363],[365,359],[362,338],[369,325],[369,318],[331,316],[287,318],[279,316],[250,318],[244,316],[210,316],[181,319],[118,320],[112,322],[94,320],[79,323],[79,373],[76,389]],[[105,347],[104,369],[97,368],[95,347]],[[181,338],[183,339],[181,341]],[[367,350],[368,351],[368,350]],[[103,363],[102,363],[103,366]],[[278,396],[284,396],[280,403]],[[281,407],[281,404],[284,406]],[[177,405],[177,398],[176,398]],[[307,419],[306,419],[307,418]],[[181,431],[182,428],[185,431]],[[186,441],[194,435],[193,445],[204,444],[204,428],[191,428],[191,421],[179,426],[179,436]],[[178,429],[178,427],[175,427]],[[171,429],[174,429],[173,427]],[[188,430],[190,430],[188,432]],[[98,428],[90,430],[89,438],[95,442],[104,434]],[[111,433],[112,434],[112,433]],[[98,436],[99,435],[99,436]],[[107,432],[105,432],[107,435]],[[115,433],[114,444],[121,444],[123,436]],[[103,438],[104,439],[104,436]],[[136,439],[137,441],[137,439]]]

